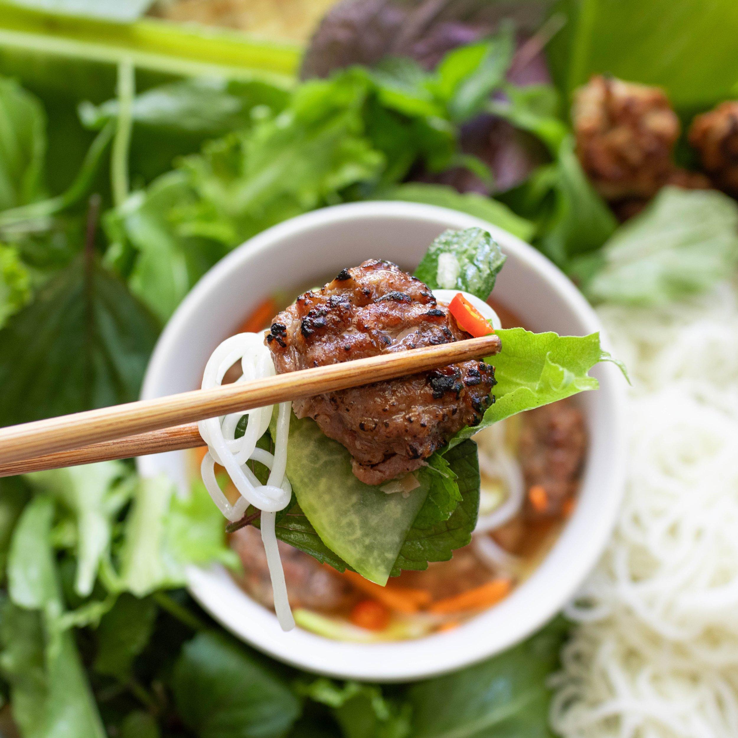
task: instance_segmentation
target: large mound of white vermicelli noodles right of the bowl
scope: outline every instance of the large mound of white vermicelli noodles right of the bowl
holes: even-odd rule
[[[738,736],[738,296],[601,309],[633,382],[624,508],[568,609],[565,738]]]

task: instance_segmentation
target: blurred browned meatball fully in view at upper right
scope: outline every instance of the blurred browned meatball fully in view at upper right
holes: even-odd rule
[[[574,94],[576,153],[605,199],[649,198],[674,169],[677,115],[658,87],[593,77]]]

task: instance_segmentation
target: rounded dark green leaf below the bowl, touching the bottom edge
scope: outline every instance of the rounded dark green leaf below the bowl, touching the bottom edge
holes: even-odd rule
[[[214,632],[185,644],[174,667],[174,700],[199,738],[278,738],[300,703],[245,646]]]

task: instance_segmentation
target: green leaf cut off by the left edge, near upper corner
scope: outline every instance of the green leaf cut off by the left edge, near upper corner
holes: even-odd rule
[[[41,196],[46,115],[30,92],[0,77],[0,120],[0,210],[7,210]]]

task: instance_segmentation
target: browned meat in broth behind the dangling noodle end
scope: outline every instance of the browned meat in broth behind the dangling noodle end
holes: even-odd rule
[[[274,607],[272,581],[266,565],[261,534],[251,525],[235,531],[231,545],[244,565],[244,589],[264,607]],[[292,607],[308,607],[334,613],[351,607],[356,600],[351,584],[332,574],[312,556],[279,542],[279,552]]]

